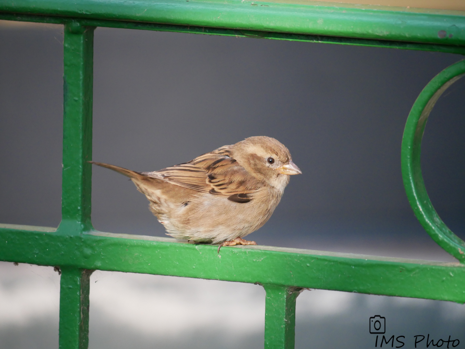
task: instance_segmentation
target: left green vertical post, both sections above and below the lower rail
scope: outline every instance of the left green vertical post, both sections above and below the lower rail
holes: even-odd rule
[[[65,24],[63,43],[63,170],[61,223],[66,237],[92,230],[93,31],[77,21]],[[60,279],[60,349],[87,349],[89,279],[92,271],[57,263]]]

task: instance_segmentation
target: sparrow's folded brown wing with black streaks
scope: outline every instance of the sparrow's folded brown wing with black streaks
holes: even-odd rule
[[[195,191],[224,195],[232,201],[248,202],[247,194],[256,191],[260,182],[231,158],[228,146],[180,165],[143,174]]]

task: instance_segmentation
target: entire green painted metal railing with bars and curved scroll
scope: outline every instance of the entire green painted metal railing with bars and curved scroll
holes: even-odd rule
[[[96,231],[91,223],[93,30],[96,26],[380,46],[465,54],[465,13],[282,0],[0,0],[0,19],[65,26],[62,221],[58,228],[0,224],[0,260],[60,268],[60,349],[86,349],[93,270],[259,283],[266,290],[265,348],[294,347],[303,288],[465,303],[465,243],[428,198],[421,138],[441,93],[465,61],[440,72],[407,119],[402,174],[415,215],[459,263],[269,246],[211,245]]]

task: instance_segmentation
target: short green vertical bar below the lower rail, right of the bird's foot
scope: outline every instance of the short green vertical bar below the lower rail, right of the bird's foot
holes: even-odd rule
[[[264,285],[265,349],[294,349],[295,301],[298,287]]]

